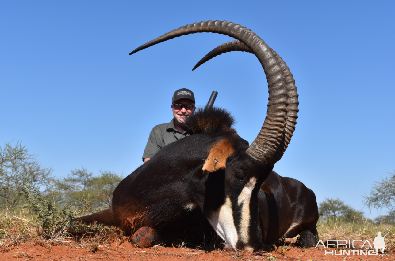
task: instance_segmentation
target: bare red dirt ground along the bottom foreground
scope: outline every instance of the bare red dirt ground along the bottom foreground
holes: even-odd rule
[[[388,254],[390,256],[364,256],[364,255],[324,255],[325,251],[320,248],[301,249],[297,247],[286,247],[285,254],[275,251],[271,253],[263,252],[262,256],[251,255],[246,252],[222,252],[218,250],[206,252],[205,250],[194,250],[190,248],[169,248],[156,246],[152,248],[136,248],[130,242],[124,242],[119,246],[115,241],[108,246],[98,246],[96,252],[90,251],[87,247],[81,247],[74,243],[62,242],[58,246],[40,246],[34,242],[0,248],[0,258],[5,260],[47,260],[47,261],[85,261],[85,260],[286,260],[286,261],[305,261],[305,260],[333,260],[333,261],[368,261],[368,260],[394,260],[394,249]],[[332,248],[330,250],[333,250]]]

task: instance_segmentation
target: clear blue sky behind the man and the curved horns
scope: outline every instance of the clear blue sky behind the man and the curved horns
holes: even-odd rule
[[[232,52],[191,71],[233,39],[196,33],[128,55],[180,26],[227,20],[257,33],[296,80],[299,118],[275,171],[318,202],[338,197],[362,209],[372,181],[395,169],[394,9],[394,1],[1,1],[1,144],[23,141],[56,176],[82,165],[128,175],[183,87],[198,105],[218,91],[215,105],[251,143],[268,97],[256,57]]]

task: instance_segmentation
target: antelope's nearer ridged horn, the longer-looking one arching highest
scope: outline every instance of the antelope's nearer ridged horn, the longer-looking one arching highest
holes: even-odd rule
[[[233,37],[244,43],[260,61],[266,74],[269,87],[269,103],[267,104],[266,118],[258,136],[247,149],[247,153],[264,164],[272,163],[272,158],[278,146],[284,140],[284,128],[288,112],[288,91],[286,79],[281,65],[273,55],[269,46],[253,31],[226,21],[203,21],[181,26],[178,29],[141,45],[130,54],[148,48],[154,44],[162,43],[169,39],[190,33],[220,33]],[[274,160],[274,159],[273,159]],[[274,161],[275,163],[276,161]]]

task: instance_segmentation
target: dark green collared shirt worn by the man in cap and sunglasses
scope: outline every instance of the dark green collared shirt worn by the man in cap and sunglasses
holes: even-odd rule
[[[178,141],[179,139],[189,136],[187,132],[182,133],[174,125],[174,118],[169,123],[156,125],[149,133],[147,145],[145,146],[143,161],[145,158],[152,158],[161,148]]]

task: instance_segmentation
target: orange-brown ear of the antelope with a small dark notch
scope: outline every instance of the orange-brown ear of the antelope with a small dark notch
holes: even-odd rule
[[[226,160],[233,152],[235,152],[235,149],[229,139],[224,139],[214,144],[213,148],[210,150],[209,156],[205,159],[202,168],[204,173],[226,168]]]

